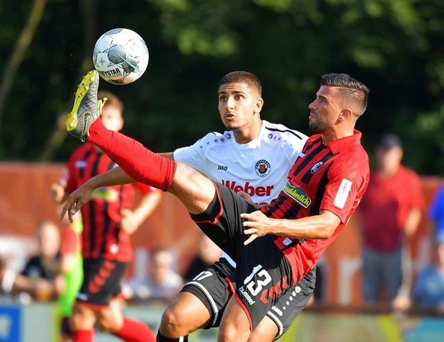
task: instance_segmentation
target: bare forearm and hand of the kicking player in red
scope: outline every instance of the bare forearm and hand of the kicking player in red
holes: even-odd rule
[[[241,217],[246,219],[244,227],[248,227],[244,230],[244,234],[250,235],[244,245],[266,234],[290,239],[330,239],[341,223],[341,219],[328,210],[322,210],[319,215],[296,220],[271,219],[259,210],[251,214],[241,214]]]

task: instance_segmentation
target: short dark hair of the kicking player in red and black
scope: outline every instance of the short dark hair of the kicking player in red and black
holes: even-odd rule
[[[323,74],[321,85],[339,87],[339,94],[357,104],[355,115],[360,117],[367,109],[368,94],[370,89],[364,83],[355,80],[348,74]]]

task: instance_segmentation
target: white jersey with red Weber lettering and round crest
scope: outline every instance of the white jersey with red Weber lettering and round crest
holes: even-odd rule
[[[255,203],[268,204],[284,189],[307,139],[297,130],[263,120],[258,137],[248,144],[238,144],[230,130],[211,132],[174,151],[174,160],[234,192],[245,191]]]

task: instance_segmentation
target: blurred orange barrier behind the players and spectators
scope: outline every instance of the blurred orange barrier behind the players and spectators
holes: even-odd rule
[[[0,163],[0,242],[2,236],[33,237],[35,225],[44,219],[59,222],[59,211],[49,198],[49,190],[51,184],[62,176],[63,169],[63,164]],[[441,182],[440,178],[422,178],[427,203],[432,200]],[[158,246],[176,249],[178,271],[182,272],[196,254],[199,235],[200,230],[180,201],[164,193],[160,207],[133,235],[133,246],[148,250]],[[416,269],[432,257],[430,237],[427,219],[423,219],[412,246]],[[28,250],[23,253],[28,253]],[[353,218],[327,249],[323,262],[327,302],[359,305],[361,239]],[[130,267],[128,275],[132,274],[133,268]]]

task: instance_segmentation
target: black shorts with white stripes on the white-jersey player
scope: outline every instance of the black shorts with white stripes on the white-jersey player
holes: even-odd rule
[[[210,325],[207,325],[204,329],[219,327],[223,311],[231,297],[225,277],[228,277],[233,271],[234,267],[226,259],[221,258],[219,262],[196,275],[193,280],[183,287],[181,292],[194,294],[207,307],[210,313]],[[309,271],[295,287],[289,289],[276,305],[267,312],[266,316],[271,318],[278,326],[278,334],[275,339],[279,339],[289,330],[293,320],[307,305],[313,294],[315,282],[316,268]]]

